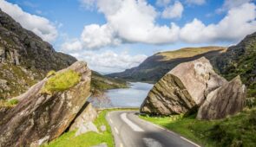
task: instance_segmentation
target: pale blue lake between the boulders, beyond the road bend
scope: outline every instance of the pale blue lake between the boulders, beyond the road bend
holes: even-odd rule
[[[128,88],[108,90],[102,96],[89,98],[89,102],[98,108],[140,107],[153,86],[148,83],[130,82]]]

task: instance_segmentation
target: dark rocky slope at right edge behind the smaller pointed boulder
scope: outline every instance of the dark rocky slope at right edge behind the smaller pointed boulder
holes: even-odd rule
[[[227,48],[211,61],[227,80],[240,75],[248,88],[248,96],[256,97],[256,32],[247,35],[236,46]]]

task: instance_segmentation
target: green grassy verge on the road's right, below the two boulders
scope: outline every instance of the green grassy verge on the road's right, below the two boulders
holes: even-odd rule
[[[140,118],[175,131],[203,146],[256,146],[255,108],[214,121],[197,120],[195,115]]]

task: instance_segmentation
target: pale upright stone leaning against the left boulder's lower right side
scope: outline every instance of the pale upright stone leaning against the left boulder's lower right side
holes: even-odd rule
[[[97,118],[97,112],[89,102],[86,102],[86,104],[83,105],[80,111],[81,112],[78,113],[74,123],[70,125],[69,131],[74,131],[75,129],[79,128],[82,124],[85,124],[87,122],[93,122],[95,118]]]

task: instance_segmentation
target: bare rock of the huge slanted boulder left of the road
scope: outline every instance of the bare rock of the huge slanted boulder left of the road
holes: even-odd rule
[[[20,102],[0,120],[0,146],[38,146],[67,130],[90,95],[91,80],[85,62],[77,61],[58,73],[70,70],[80,75],[75,86],[43,93],[49,76],[18,97]]]

